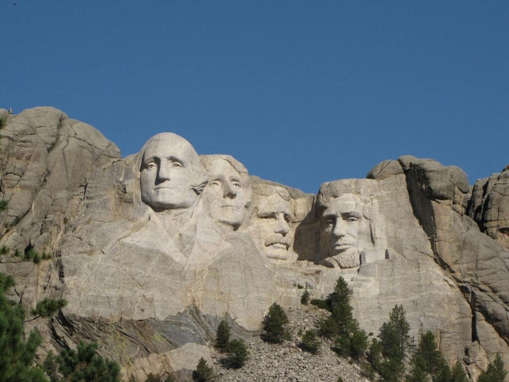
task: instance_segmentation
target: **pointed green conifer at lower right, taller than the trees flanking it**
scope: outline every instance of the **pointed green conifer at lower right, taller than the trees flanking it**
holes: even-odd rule
[[[382,353],[390,359],[403,360],[410,343],[410,324],[402,305],[395,305],[389,314],[389,322],[384,322],[378,337],[382,343]]]

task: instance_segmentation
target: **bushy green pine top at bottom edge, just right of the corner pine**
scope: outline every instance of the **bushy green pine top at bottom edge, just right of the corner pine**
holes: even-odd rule
[[[119,365],[97,354],[98,345],[80,341],[73,349],[64,349],[57,358],[59,371],[69,382],[120,382]]]

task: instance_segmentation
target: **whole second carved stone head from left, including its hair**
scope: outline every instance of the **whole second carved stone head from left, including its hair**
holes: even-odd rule
[[[205,211],[217,223],[237,230],[251,199],[249,175],[230,155],[204,155],[208,184],[203,191]]]

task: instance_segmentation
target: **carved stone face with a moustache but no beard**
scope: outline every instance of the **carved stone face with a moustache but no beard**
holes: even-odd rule
[[[285,190],[286,191],[286,190]],[[290,203],[274,193],[259,199],[251,217],[251,235],[258,249],[271,259],[287,260],[292,253],[293,232]]]

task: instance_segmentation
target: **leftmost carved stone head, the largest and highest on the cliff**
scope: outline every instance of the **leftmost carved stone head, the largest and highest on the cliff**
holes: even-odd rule
[[[193,160],[199,163],[192,146],[178,135],[161,133],[151,138],[140,167],[142,201],[156,211],[191,207],[197,198],[192,189]]]

